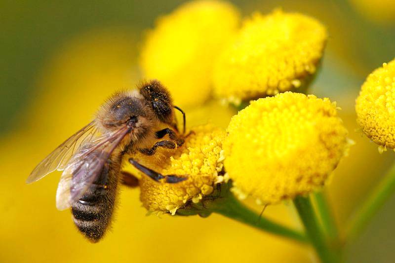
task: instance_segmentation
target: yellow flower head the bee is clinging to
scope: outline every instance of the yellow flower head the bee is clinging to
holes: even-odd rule
[[[214,183],[221,182],[218,176],[223,168],[222,141],[225,132],[211,125],[198,126],[185,144],[170,158],[158,156],[139,158],[143,165],[162,175],[178,175],[188,177],[177,183],[157,183],[145,175],[141,175],[140,199],[145,208],[152,212],[171,212],[173,215],[187,201],[198,202],[204,195],[213,191]]]

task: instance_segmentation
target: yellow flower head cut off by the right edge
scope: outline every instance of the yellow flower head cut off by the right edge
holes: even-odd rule
[[[381,149],[395,149],[395,60],[370,74],[356,99],[357,122]]]

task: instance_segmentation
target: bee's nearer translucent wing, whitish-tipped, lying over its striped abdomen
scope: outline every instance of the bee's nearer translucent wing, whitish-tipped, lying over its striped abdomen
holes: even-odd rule
[[[129,132],[126,126],[111,134],[104,134],[92,143],[83,146],[70,159],[60,178],[56,192],[56,207],[69,208],[100,176],[110,154]]]

